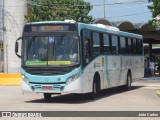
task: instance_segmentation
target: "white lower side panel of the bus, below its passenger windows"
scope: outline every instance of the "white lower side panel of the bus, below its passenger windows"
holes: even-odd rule
[[[104,59],[104,63],[102,63],[102,59]],[[129,70],[131,71],[132,82],[142,78],[143,56],[101,55],[90,62],[83,70],[83,91],[84,93],[92,91],[92,83],[96,72],[100,75],[101,90],[126,85]]]

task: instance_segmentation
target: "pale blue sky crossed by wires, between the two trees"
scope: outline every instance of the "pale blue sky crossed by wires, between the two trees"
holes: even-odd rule
[[[130,21],[132,23],[146,23],[152,19],[152,13],[147,8],[148,0],[85,0],[93,5],[89,15],[93,18],[104,18],[109,21]]]

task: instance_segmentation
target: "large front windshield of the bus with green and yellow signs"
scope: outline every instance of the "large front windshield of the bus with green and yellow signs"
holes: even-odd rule
[[[24,66],[73,66],[79,63],[76,34],[23,37]]]

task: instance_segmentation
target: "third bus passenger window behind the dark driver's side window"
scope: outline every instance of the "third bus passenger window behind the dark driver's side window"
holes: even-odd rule
[[[113,54],[118,54],[119,50],[118,50],[118,37],[112,35],[112,53]]]

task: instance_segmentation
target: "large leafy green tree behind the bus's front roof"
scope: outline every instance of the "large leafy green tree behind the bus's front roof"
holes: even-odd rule
[[[27,22],[73,19],[87,23],[92,20],[92,16],[88,15],[92,8],[84,0],[30,0],[25,19]]]

